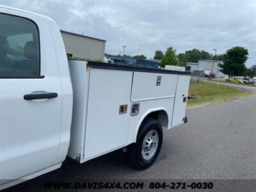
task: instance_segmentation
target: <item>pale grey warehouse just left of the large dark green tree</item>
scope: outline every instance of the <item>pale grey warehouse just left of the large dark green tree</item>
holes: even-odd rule
[[[198,60],[198,63],[188,62],[186,67],[190,72],[194,70],[209,70],[215,74],[215,77],[225,77],[223,72],[220,72],[219,64],[223,64],[223,61],[218,60]]]

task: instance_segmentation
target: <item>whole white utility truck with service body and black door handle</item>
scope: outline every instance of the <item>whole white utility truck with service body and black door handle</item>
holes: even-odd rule
[[[186,122],[189,73],[67,60],[56,22],[0,6],[0,188],[127,147],[139,170]]]

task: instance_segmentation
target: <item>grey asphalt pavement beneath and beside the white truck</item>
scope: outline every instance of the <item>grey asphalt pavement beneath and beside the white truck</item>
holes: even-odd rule
[[[60,169],[8,191],[33,191],[35,183],[45,179],[256,179],[255,115],[255,94],[188,109],[188,124],[164,131],[161,153],[147,170],[127,166],[122,150],[83,164],[67,157]],[[248,186],[244,182],[241,186]],[[239,189],[234,184],[228,187]]]

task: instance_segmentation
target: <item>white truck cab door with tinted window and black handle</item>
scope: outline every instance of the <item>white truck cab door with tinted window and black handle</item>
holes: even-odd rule
[[[61,81],[33,18],[0,7],[0,189],[61,166]]]

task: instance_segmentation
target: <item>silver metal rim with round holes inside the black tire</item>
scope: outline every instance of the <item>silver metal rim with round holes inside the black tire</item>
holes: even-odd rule
[[[143,159],[146,159],[146,160],[151,159],[154,156],[154,154],[156,154],[158,143],[159,143],[159,136],[157,131],[154,129],[149,131],[146,134],[142,144],[141,154]]]

